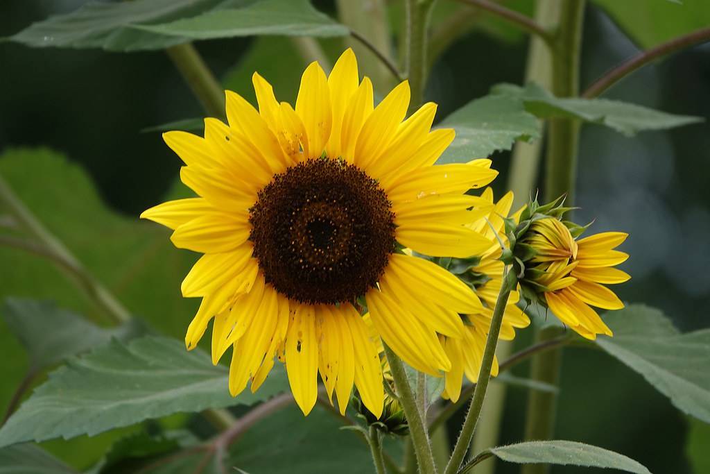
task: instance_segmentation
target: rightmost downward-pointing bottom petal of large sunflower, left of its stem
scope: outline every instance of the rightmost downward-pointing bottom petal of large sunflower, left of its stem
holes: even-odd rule
[[[354,350],[354,381],[360,397],[370,412],[380,417],[384,405],[384,389],[382,386],[382,365],[376,345],[368,335],[368,329],[363,318],[350,305],[343,305],[342,316],[349,326]],[[344,381],[345,384],[347,380]],[[341,411],[344,411],[341,403]]]

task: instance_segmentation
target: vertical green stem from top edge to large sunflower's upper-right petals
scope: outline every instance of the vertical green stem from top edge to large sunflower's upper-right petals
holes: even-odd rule
[[[406,0],[407,6],[407,77],[412,91],[410,112],[424,100],[427,80],[427,27],[434,0]]]

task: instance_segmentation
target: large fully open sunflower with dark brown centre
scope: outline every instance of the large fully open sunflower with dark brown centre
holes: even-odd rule
[[[195,348],[212,323],[212,359],[233,348],[229,390],[262,384],[285,362],[304,414],[320,372],[345,411],[353,384],[380,416],[382,370],[361,317],[409,365],[432,375],[451,368],[437,333],[462,338],[459,313],[482,303],[455,276],[402,254],[468,257],[490,242],[464,227],[476,198],[464,194],[497,172],[491,161],[433,166],[454,139],[430,131],[436,104],[405,120],[408,82],[373,107],[346,50],[329,76],[311,63],[295,108],[253,75],[258,111],[226,91],[229,124],[205,119],[204,137],[163,135],[185,162],[182,182],[197,194],[148,209],[174,230],[176,247],[204,255],[182,282],[202,303],[187,328]]]

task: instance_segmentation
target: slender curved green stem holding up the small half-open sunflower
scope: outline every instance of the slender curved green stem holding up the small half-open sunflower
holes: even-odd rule
[[[457,473],[459,467],[461,467],[461,463],[464,462],[466,452],[469,451],[471,439],[473,439],[474,432],[476,431],[476,423],[479,421],[481,408],[483,407],[484,399],[486,398],[488,382],[491,380],[491,367],[493,367],[493,358],[496,357],[496,345],[498,344],[498,335],[501,333],[503,314],[506,312],[508,296],[510,296],[510,291],[512,291],[517,284],[518,280],[515,277],[514,272],[506,270],[506,274],[503,275],[501,291],[498,293],[496,308],[493,309],[491,327],[488,328],[486,348],[484,349],[484,356],[481,359],[481,369],[479,370],[479,377],[476,382],[474,396],[471,398],[469,412],[466,414],[464,426],[461,427],[459,439],[456,441],[454,452],[451,455],[451,459],[449,459],[449,464],[447,465],[446,470],[444,470],[444,474]]]

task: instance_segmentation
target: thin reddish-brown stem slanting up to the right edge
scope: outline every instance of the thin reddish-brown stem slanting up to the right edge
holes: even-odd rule
[[[701,43],[706,43],[710,41],[710,28],[702,28],[698,31],[688,33],[684,36],[679,36],[678,38],[673,38],[666,43],[657,45],[649,50],[645,50],[633,58],[624,61],[620,65],[616,66],[609,72],[607,72],[602,77],[599,77],[594,84],[589,86],[587,90],[581,95],[586,99],[592,99],[603,94],[609,87],[619,82],[624,77],[630,75],[635,70],[643,68],[643,66],[648,63],[662,58],[663,56],[676,53],[679,50],[689,48],[690,46],[699,45]]]

